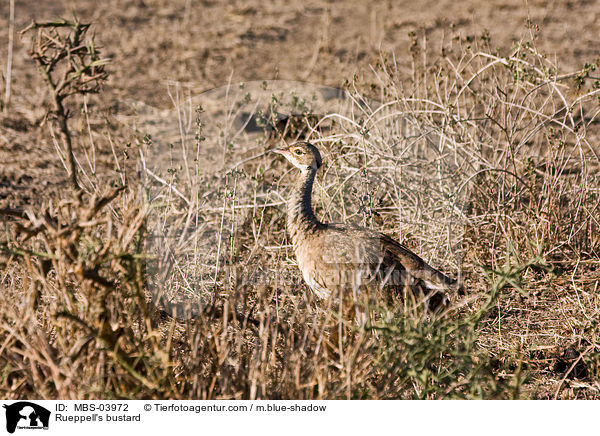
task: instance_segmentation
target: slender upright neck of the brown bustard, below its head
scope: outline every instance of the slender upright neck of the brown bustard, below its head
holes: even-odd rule
[[[294,243],[305,232],[323,226],[312,209],[312,187],[316,174],[317,170],[313,168],[302,171],[288,200],[287,226]]]

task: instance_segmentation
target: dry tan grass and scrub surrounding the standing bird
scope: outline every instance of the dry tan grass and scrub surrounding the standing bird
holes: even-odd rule
[[[487,35],[441,54],[423,41],[411,78],[382,56],[344,112],[315,122],[287,92],[270,110],[303,114],[326,151],[323,220],[386,231],[460,274],[465,298],[436,316],[373,307],[365,327],[315,301],[272,142],[178,112],[181,126],[198,118],[195,140],[105,135],[123,186],[80,165],[81,191],[3,210],[0,395],[597,398],[593,66],[563,74],[531,42],[500,55]],[[137,154],[141,177],[120,157]]]

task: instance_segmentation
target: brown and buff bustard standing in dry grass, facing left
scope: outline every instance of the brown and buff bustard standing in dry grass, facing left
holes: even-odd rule
[[[297,142],[274,150],[300,170],[287,204],[287,231],[302,276],[317,297],[333,292],[355,298],[422,296],[429,307],[446,301],[444,290],[460,291],[459,283],[399,242],[364,227],[320,222],[312,208],[311,193],[321,167],[319,150]],[[338,294],[339,295],[339,294]]]

